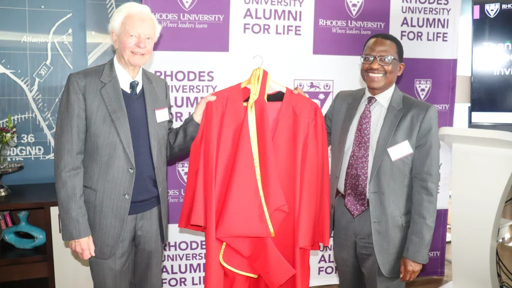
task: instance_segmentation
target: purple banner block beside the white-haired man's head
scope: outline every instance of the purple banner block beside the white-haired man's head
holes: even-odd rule
[[[229,0],[143,0],[162,25],[155,51],[229,51]]]

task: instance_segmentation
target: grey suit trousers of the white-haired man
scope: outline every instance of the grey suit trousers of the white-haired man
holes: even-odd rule
[[[105,260],[89,259],[94,288],[160,288],[163,255],[161,222],[160,205],[140,214],[129,215],[114,255]]]

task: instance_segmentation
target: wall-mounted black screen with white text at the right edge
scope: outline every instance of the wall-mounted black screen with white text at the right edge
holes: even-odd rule
[[[471,124],[512,125],[512,0],[473,1]]]

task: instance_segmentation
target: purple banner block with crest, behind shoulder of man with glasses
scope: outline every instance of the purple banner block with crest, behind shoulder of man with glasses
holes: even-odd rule
[[[405,58],[398,88],[412,97],[435,105],[439,127],[453,126],[456,59]]]

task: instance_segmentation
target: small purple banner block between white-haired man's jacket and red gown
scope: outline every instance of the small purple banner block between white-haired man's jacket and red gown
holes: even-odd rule
[[[188,158],[167,167],[167,200],[169,224],[178,224],[185,197],[188,174]]]

